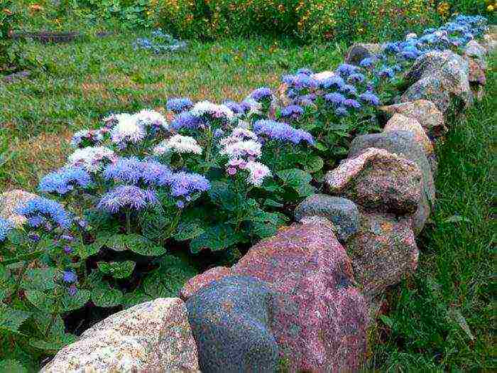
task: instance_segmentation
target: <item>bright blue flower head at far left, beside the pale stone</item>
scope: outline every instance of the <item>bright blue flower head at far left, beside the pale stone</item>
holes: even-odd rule
[[[33,198],[17,207],[19,215],[28,219],[28,225],[39,227],[43,223],[54,222],[58,227],[69,228],[72,217],[60,203],[48,198]]]

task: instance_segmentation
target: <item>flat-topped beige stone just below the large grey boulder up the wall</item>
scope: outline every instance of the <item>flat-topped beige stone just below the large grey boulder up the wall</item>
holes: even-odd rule
[[[427,99],[418,99],[413,102],[403,102],[379,108],[387,114],[402,114],[404,117],[416,119],[425,129],[428,137],[434,139],[447,132],[444,116],[435,104]]]

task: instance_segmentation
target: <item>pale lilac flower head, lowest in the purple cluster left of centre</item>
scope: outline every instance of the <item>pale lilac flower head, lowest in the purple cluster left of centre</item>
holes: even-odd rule
[[[153,190],[143,190],[134,185],[121,185],[105,193],[97,207],[115,214],[121,209],[143,210],[158,203]]]

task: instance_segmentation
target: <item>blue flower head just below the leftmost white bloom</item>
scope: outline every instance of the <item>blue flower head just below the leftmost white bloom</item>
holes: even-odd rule
[[[38,189],[43,193],[65,194],[77,187],[87,188],[92,183],[92,177],[82,167],[67,166],[48,173],[40,180]]]

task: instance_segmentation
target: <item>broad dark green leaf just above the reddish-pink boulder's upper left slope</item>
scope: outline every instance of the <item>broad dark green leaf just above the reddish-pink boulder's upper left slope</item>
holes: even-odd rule
[[[201,249],[211,249],[213,252],[226,249],[241,241],[241,234],[226,224],[214,225],[206,229],[199,237],[192,239],[190,250],[192,253],[200,252]]]

